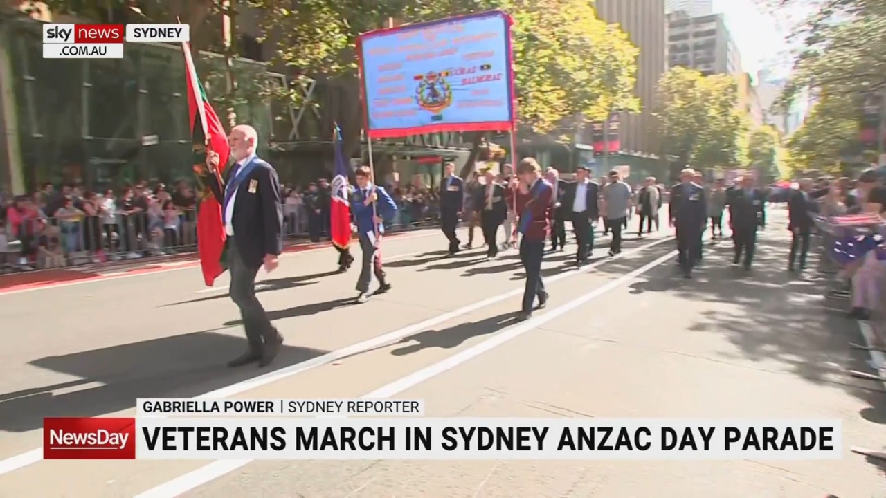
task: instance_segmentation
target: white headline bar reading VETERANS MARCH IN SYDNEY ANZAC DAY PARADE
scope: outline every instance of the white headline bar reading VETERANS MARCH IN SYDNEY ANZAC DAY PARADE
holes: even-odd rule
[[[136,459],[835,460],[839,420],[136,418]]]

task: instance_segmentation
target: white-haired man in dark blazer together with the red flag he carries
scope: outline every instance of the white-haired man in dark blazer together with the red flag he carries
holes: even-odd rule
[[[194,146],[194,173],[204,187],[198,204],[198,251],[207,285],[225,268],[230,299],[240,310],[248,348],[228,363],[231,368],[258,363],[267,367],[283,344],[255,296],[261,267],[274,271],[283,252],[283,207],[274,167],[260,160],[258,133],[248,125],[224,128],[206,99],[188,43],[182,43],[188,84],[188,109]],[[228,167],[232,157],[234,164]],[[204,165],[196,161],[203,160]],[[221,199],[221,203],[219,200]]]

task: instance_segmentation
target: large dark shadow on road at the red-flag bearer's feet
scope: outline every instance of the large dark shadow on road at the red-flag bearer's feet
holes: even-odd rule
[[[217,330],[30,362],[80,378],[0,394],[0,431],[39,429],[47,416],[111,414],[134,407],[136,398],[192,398],[329,353],[284,344],[267,369],[255,365],[229,369],[225,363],[244,352],[246,341]]]

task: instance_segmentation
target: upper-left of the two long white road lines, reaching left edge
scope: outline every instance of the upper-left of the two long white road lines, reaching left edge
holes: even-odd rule
[[[625,253],[621,253],[616,255],[613,258],[608,258],[601,261],[596,261],[593,264],[587,265],[585,267],[580,268],[571,268],[569,270],[563,271],[563,273],[559,273],[555,276],[548,276],[545,278],[545,283],[557,282],[559,280],[563,280],[564,278],[568,278],[573,275],[579,275],[580,273],[588,272],[594,268],[601,266],[609,261],[618,260],[624,258],[626,256],[630,256],[635,253],[640,253],[645,249],[649,249],[649,247],[654,247],[656,245],[664,244],[665,242],[672,241],[673,237],[664,237],[658,239],[654,242],[650,242],[646,245],[641,245],[635,249],[630,251],[626,251]],[[268,385],[274,383],[278,380],[282,380],[284,378],[292,377],[298,375],[307,370],[313,370],[317,367],[321,367],[323,365],[329,364],[331,362],[338,362],[343,358],[348,356],[353,356],[354,354],[361,354],[365,351],[369,351],[371,349],[375,349],[379,346],[385,346],[392,342],[398,341],[401,338],[405,338],[416,332],[421,332],[430,329],[431,327],[438,325],[439,323],[448,322],[453,318],[457,318],[462,315],[467,315],[478,309],[483,309],[484,307],[492,306],[494,304],[500,303],[503,300],[509,300],[513,297],[520,296],[523,294],[523,287],[519,287],[510,292],[505,292],[503,294],[499,294],[497,296],[488,298],[486,300],[481,300],[470,304],[465,307],[460,307],[453,311],[449,311],[442,315],[437,315],[431,317],[424,322],[414,323],[412,325],[408,325],[400,330],[388,332],[384,335],[377,336],[375,338],[370,338],[364,340],[362,342],[353,344],[351,346],[346,346],[336,351],[332,351],[327,354],[323,354],[321,356],[317,356],[306,362],[296,363],[289,367],[285,367],[280,370],[275,370],[272,372],[268,372],[266,374],[260,375],[259,377],[253,377],[250,379],[246,379],[242,382],[237,382],[237,384],[229,385],[227,387],[222,387],[221,389],[216,389],[210,393],[204,393],[200,396],[197,396],[195,399],[200,398],[228,398],[229,396],[235,396],[239,393],[245,393],[246,391],[250,391],[255,389],[256,387],[260,387],[262,385]],[[26,467],[32,463],[37,463],[43,459],[43,448],[36,448],[34,450],[28,451],[27,453],[21,455],[15,455],[10,458],[6,458],[0,461],[0,475],[7,474],[12,471],[17,471],[22,467]]]

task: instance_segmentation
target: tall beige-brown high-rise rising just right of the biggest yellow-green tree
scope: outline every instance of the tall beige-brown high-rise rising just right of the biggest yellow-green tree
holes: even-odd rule
[[[646,154],[659,153],[657,124],[652,115],[656,105],[658,80],[667,71],[667,19],[665,0],[596,0],[600,19],[618,24],[640,49],[637,83],[641,112],[621,117],[621,149]]]

